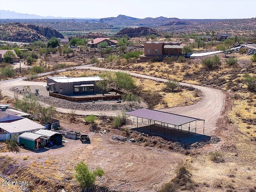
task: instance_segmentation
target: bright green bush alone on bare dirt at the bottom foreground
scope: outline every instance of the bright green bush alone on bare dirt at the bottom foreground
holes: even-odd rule
[[[100,167],[90,171],[83,161],[76,164],[75,171],[75,179],[83,189],[91,187],[96,181],[96,176],[102,177],[104,175],[104,171]]]

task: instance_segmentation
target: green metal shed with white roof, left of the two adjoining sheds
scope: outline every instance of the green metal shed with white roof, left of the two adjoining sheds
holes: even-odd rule
[[[37,150],[39,149],[41,142],[40,137],[41,135],[26,132],[18,136],[18,143],[23,145],[24,147]]]

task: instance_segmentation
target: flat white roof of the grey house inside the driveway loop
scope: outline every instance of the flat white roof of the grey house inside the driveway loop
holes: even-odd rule
[[[99,76],[92,77],[66,77],[66,76],[58,76],[58,77],[48,77],[49,79],[54,80],[58,83],[71,83],[71,82],[86,82],[86,81],[100,81],[103,80]]]

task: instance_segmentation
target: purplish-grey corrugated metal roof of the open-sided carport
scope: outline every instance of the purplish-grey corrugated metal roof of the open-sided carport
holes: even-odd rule
[[[138,109],[131,112],[126,112],[126,115],[136,116],[140,118],[145,118],[148,120],[154,120],[158,122],[163,122],[175,126],[181,126],[196,120],[202,120],[198,118],[182,116],[157,110],[149,110],[149,109]]]

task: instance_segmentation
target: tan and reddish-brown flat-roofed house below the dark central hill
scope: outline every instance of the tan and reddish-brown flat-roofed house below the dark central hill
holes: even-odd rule
[[[146,62],[155,57],[180,56],[186,44],[182,42],[146,42],[144,44],[144,55],[137,62]]]

